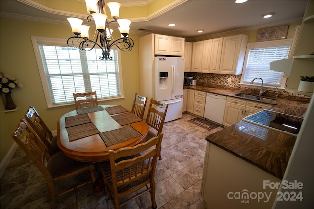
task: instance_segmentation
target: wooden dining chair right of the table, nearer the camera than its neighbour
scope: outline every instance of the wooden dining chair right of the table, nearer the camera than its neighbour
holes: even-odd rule
[[[157,136],[162,132],[163,124],[168,110],[168,105],[169,104],[161,103],[151,98],[150,104],[148,106],[149,109],[147,112],[146,123],[150,127],[154,128],[157,131],[157,134],[155,134],[153,131],[148,131],[146,140]],[[159,153],[159,159],[162,159],[161,151]]]

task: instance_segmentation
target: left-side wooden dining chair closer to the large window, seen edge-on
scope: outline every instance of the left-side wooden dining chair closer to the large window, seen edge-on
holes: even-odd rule
[[[36,111],[35,107],[30,106],[24,117],[30,127],[40,137],[48,149],[50,156],[61,151],[57,144],[58,137],[52,135],[52,132],[49,130],[44,120],[39,116],[39,113]]]

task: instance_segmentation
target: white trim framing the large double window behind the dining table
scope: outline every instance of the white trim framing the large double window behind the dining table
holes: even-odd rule
[[[39,51],[39,45],[52,45],[52,46],[66,46],[66,39],[60,39],[60,38],[47,38],[47,37],[38,37],[38,36],[31,36],[31,41],[33,44],[36,62],[38,66],[38,71],[41,79],[41,83],[44,90],[44,95],[47,103],[47,108],[56,108],[56,107],[65,107],[65,106],[74,106],[73,102],[67,102],[67,103],[61,103],[61,104],[53,104],[50,97],[50,91],[48,82],[46,79],[46,74],[44,71],[43,62],[41,59],[40,51]],[[63,45],[64,43],[64,45]],[[114,47],[112,48],[114,49]],[[124,93],[123,93],[123,78],[122,78],[122,64],[121,64],[121,53],[120,50],[118,50],[118,65],[119,65],[119,79],[120,79],[120,96],[114,96],[114,97],[107,97],[107,98],[97,98],[99,102],[101,101],[114,101],[119,99],[124,99]]]

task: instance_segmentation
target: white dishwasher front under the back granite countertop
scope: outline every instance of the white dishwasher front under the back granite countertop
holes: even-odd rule
[[[226,106],[226,96],[206,93],[204,118],[222,124]]]

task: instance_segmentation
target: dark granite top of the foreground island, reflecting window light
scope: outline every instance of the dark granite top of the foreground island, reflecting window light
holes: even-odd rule
[[[282,179],[296,136],[240,121],[206,140]]]

